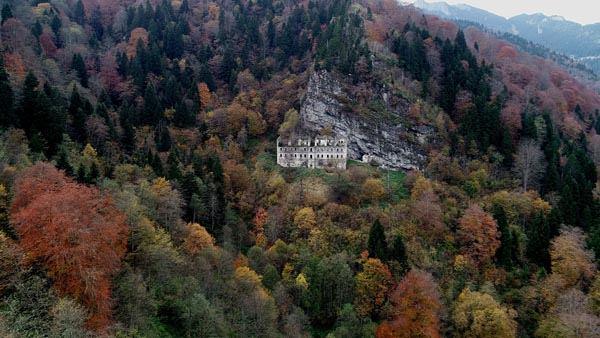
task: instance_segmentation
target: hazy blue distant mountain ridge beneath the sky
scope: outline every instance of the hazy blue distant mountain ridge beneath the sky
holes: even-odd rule
[[[446,2],[417,0],[414,5],[428,14],[472,21],[493,30],[515,34],[573,56],[600,73],[600,23],[581,25],[561,16],[541,13],[521,14],[506,19],[473,6],[450,5]]]

